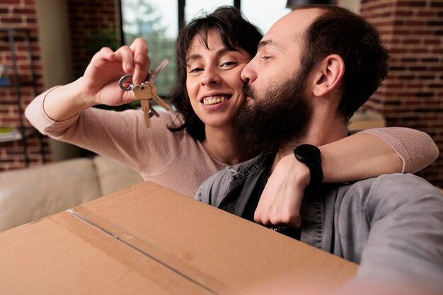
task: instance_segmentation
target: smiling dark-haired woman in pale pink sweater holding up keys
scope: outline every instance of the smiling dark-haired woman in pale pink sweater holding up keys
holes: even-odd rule
[[[139,110],[91,108],[135,100],[132,91],[120,90],[118,80],[133,74],[134,83],[144,81],[149,59],[142,39],[116,52],[103,48],[84,76],[42,93],[25,114],[43,134],[114,158],[137,170],[144,180],[193,196],[209,175],[255,156],[238,141],[231,119],[244,100],[241,69],[255,55],[260,39],[255,26],[231,7],[219,8],[183,28],[177,41],[179,75],[172,96],[178,113],[162,112],[159,118],[152,118],[149,129]],[[378,129],[372,133],[378,137],[360,133],[348,137],[346,144],[335,143],[353,153],[340,147],[342,153],[333,158],[339,164],[324,169],[324,179],[345,181],[415,172],[434,159],[435,144],[423,132]],[[425,161],[409,158],[411,148],[404,145],[409,137],[427,143],[412,148],[427,155]],[[335,147],[321,147],[324,163],[332,163],[327,155]]]

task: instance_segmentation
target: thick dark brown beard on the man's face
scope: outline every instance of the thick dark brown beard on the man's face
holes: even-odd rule
[[[246,97],[253,103],[244,103],[238,110],[234,127],[251,153],[294,147],[306,136],[312,110],[303,95],[306,75],[301,72],[267,88],[262,96],[245,84]]]

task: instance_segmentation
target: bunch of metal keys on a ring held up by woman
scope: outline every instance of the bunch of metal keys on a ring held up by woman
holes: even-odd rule
[[[151,117],[156,116],[159,117],[159,113],[152,108],[151,105],[149,105],[149,100],[154,99],[156,103],[161,105],[166,110],[171,110],[169,106],[160,98],[159,95],[157,95],[157,88],[154,84],[154,79],[159,72],[165,68],[169,64],[168,59],[163,60],[161,64],[154,70],[151,71],[147,76],[147,81],[143,82],[141,84],[130,84],[130,86],[125,87],[123,86],[123,83],[127,79],[132,79],[132,75],[125,75],[120,78],[120,81],[118,82],[118,86],[120,86],[120,89],[123,91],[134,91],[135,97],[140,100],[140,104],[142,105],[142,110],[144,114],[144,122],[146,125],[146,128],[151,127]]]

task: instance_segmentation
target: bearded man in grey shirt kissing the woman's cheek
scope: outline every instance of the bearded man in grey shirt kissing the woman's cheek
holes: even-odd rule
[[[242,71],[248,98],[235,124],[251,149],[265,153],[213,175],[197,199],[266,226],[299,227],[301,241],[359,263],[357,280],[414,282],[437,293],[443,197],[435,187],[403,174],[321,184],[316,146],[347,136],[347,120],[384,80],[388,59],[372,25],[344,8],[301,8],[281,18]],[[281,199],[287,212],[300,208],[301,223],[297,215],[274,215],[269,204],[280,195],[263,192],[272,171],[280,177],[281,158],[298,165],[304,180],[301,204]]]

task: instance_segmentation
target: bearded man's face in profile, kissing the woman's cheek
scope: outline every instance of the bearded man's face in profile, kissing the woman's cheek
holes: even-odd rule
[[[243,69],[246,103],[234,126],[248,149],[271,151],[300,139],[311,117],[309,77],[300,66],[303,33],[318,9],[293,11],[272,25]],[[256,150],[255,150],[256,151]]]

